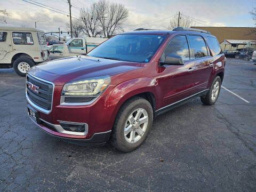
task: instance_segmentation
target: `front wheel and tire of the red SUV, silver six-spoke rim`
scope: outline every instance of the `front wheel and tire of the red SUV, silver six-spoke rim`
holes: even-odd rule
[[[141,114],[140,118],[136,118],[136,115],[139,114]],[[133,116],[135,121],[133,121],[131,116]],[[138,119],[145,123],[141,123]],[[132,122],[135,122],[135,124]],[[152,123],[153,109],[146,99],[134,97],[127,100],[116,116],[110,138],[111,145],[123,152],[129,152],[138,148],[147,138]]]

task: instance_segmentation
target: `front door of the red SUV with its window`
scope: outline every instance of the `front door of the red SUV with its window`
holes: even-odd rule
[[[162,67],[161,73],[161,90],[162,90],[162,107],[171,103],[185,99],[196,93],[196,85],[194,80],[194,62],[190,61],[189,47],[185,35],[175,36],[161,57],[161,60],[166,55],[181,56],[184,65],[165,65]]]

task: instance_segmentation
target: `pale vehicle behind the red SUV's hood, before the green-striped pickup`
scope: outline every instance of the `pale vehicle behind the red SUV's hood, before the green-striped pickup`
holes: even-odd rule
[[[49,59],[60,59],[80,55],[81,53],[72,53],[70,47],[66,44],[54,44],[49,48]]]

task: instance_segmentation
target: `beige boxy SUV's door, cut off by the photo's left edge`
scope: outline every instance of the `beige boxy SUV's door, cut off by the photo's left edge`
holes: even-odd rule
[[[10,31],[1,30],[0,31],[0,62],[1,63],[5,62],[4,57],[10,51],[12,51]]]

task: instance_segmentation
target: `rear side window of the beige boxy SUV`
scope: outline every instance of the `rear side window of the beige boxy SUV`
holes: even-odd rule
[[[34,44],[31,33],[13,32],[12,38],[13,38],[13,43],[15,45],[33,45]]]

